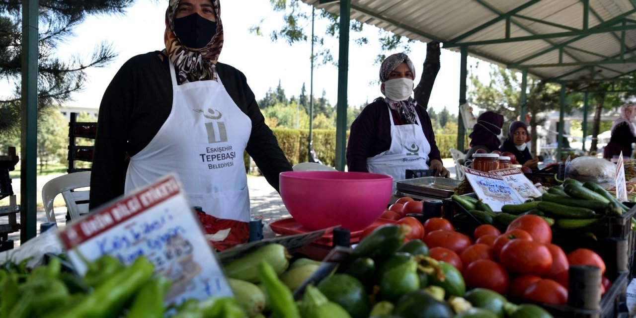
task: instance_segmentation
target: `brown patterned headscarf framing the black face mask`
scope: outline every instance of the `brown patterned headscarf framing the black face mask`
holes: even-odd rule
[[[211,0],[214,13],[216,13],[216,34],[209,43],[197,50],[188,50],[181,45],[179,38],[174,34],[174,16],[176,15],[179,0],[170,0],[165,11],[165,33],[163,41],[165,50],[163,53],[170,57],[177,73],[177,83],[189,83],[193,81],[217,80],[216,62],[223,48],[223,24],[221,23],[221,4],[219,0]]]

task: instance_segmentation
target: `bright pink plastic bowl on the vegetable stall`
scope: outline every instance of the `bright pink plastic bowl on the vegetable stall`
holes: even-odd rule
[[[392,183],[384,174],[289,171],[280,174],[280,197],[289,214],[308,230],[341,225],[359,231],[384,212]]]

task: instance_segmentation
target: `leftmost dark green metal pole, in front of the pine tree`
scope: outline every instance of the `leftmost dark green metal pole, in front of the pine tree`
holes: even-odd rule
[[[22,151],[20,154],[20,243],[36,236],[36,146],[38,142],[38,0],[22,1]]]

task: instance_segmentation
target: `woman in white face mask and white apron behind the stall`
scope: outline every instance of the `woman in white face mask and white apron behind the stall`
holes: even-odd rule
[[[448,177],[435,143],[431,118],[411,97],[415,67],[404,53],[393,54],[380,66],[380,92],[351,124],[347,144],[349,171],[405,178],[406,169],[433,169]]]

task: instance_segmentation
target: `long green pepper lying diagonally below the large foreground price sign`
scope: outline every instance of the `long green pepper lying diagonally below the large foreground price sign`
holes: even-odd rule
[[[45,317],[114,317],[153,275],[155,266],[145,256],[112,275],[92,294],[86,295],[70,308],[56,310]]]

